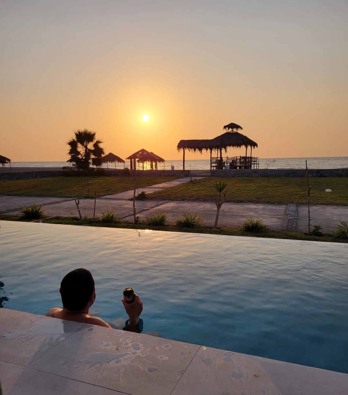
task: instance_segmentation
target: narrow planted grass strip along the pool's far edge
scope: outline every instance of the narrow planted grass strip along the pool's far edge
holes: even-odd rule
[[[23,221],[30,222],[29,220],[21,220],[17,216],[2,215],[2,220],[8,221]],[[95,226],[102,228],[123,228],[123,229],[153,229],[159,231],[171,231],[171,232],[184,232],[184,233],[205,233],[210,235],[226,235],[226,236],[248,236],[248,237],[268,237],[273,239],[290,239],[290,240],[308,240],[308,241],[326,241],[326,242],[337,242],[337,243],[348,243],[348,239],[334,238],[330,235],[308,236],[305,233],[294,231],[263,231],[260,233],[246,232],[241,228],[219,228],[213,229],[208,226],[201,228],[179,228],[175,226],[150,226],[145,224],[133,224],[129,222],[116,222],[105,224],[101,222],[92,222],[92,219],[87,221],[80,221],[77,217],[55,217],[48,220],[42,219],[47,224],[61,224],[61,225],[77,225],[77,226]]]

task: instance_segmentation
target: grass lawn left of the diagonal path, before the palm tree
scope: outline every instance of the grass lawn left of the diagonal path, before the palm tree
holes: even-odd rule
[[[178,177],[155,177],[155,183]],[[90,197],[116,194],[133,189],[133,177],[89,177]],[[138,190],[154,184],[153,177],[137,177]],[[139,190],[139,192],[141,192]],[[52,177],[28,180],[0,181],[0,194],[12,196],[87,197],[87,177]]]

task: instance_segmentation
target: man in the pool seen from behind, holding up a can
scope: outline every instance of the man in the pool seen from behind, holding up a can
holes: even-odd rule
[[[63,308],[51,308],[46,316],[111,328],[101,318],[91,317],[88,314],[89,308],[96,299],[94,278],[90,271],[80,268],[68,273],[60,283],[59,292],[62,295]],[[128,304],[123,299],[122,303],[129,317],[123,329],[140,333],[139,316],[143,311],[143,302],[138,295],[135,295],[133,303]]]

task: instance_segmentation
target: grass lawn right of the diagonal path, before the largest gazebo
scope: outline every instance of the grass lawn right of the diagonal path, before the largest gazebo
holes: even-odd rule
[[[149,199],[214,201],[215,181],[222,178],[194,180],[163,189]],[[307,204],[307,179],[295,177],[226,178],[227,201],[235,203]],[[348,205],[348,178],[310,178],[310,204]],[[331,189],[332,192],[325,192]]]

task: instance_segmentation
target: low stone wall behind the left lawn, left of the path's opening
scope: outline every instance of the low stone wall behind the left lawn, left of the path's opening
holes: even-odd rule
[[[123,169],[105,170],[107,175],[124,176]],[[0,180],[24,180],[30,178],[47,178],[47,177],[62,177],[64,172],[62,170],[38,170],[38,171],[7,171],[0,173]],[[155,177],[189,177],[190,170],[137,170],[137,177],[152,176]],[[133,177],[133,171],[130,176]]]

